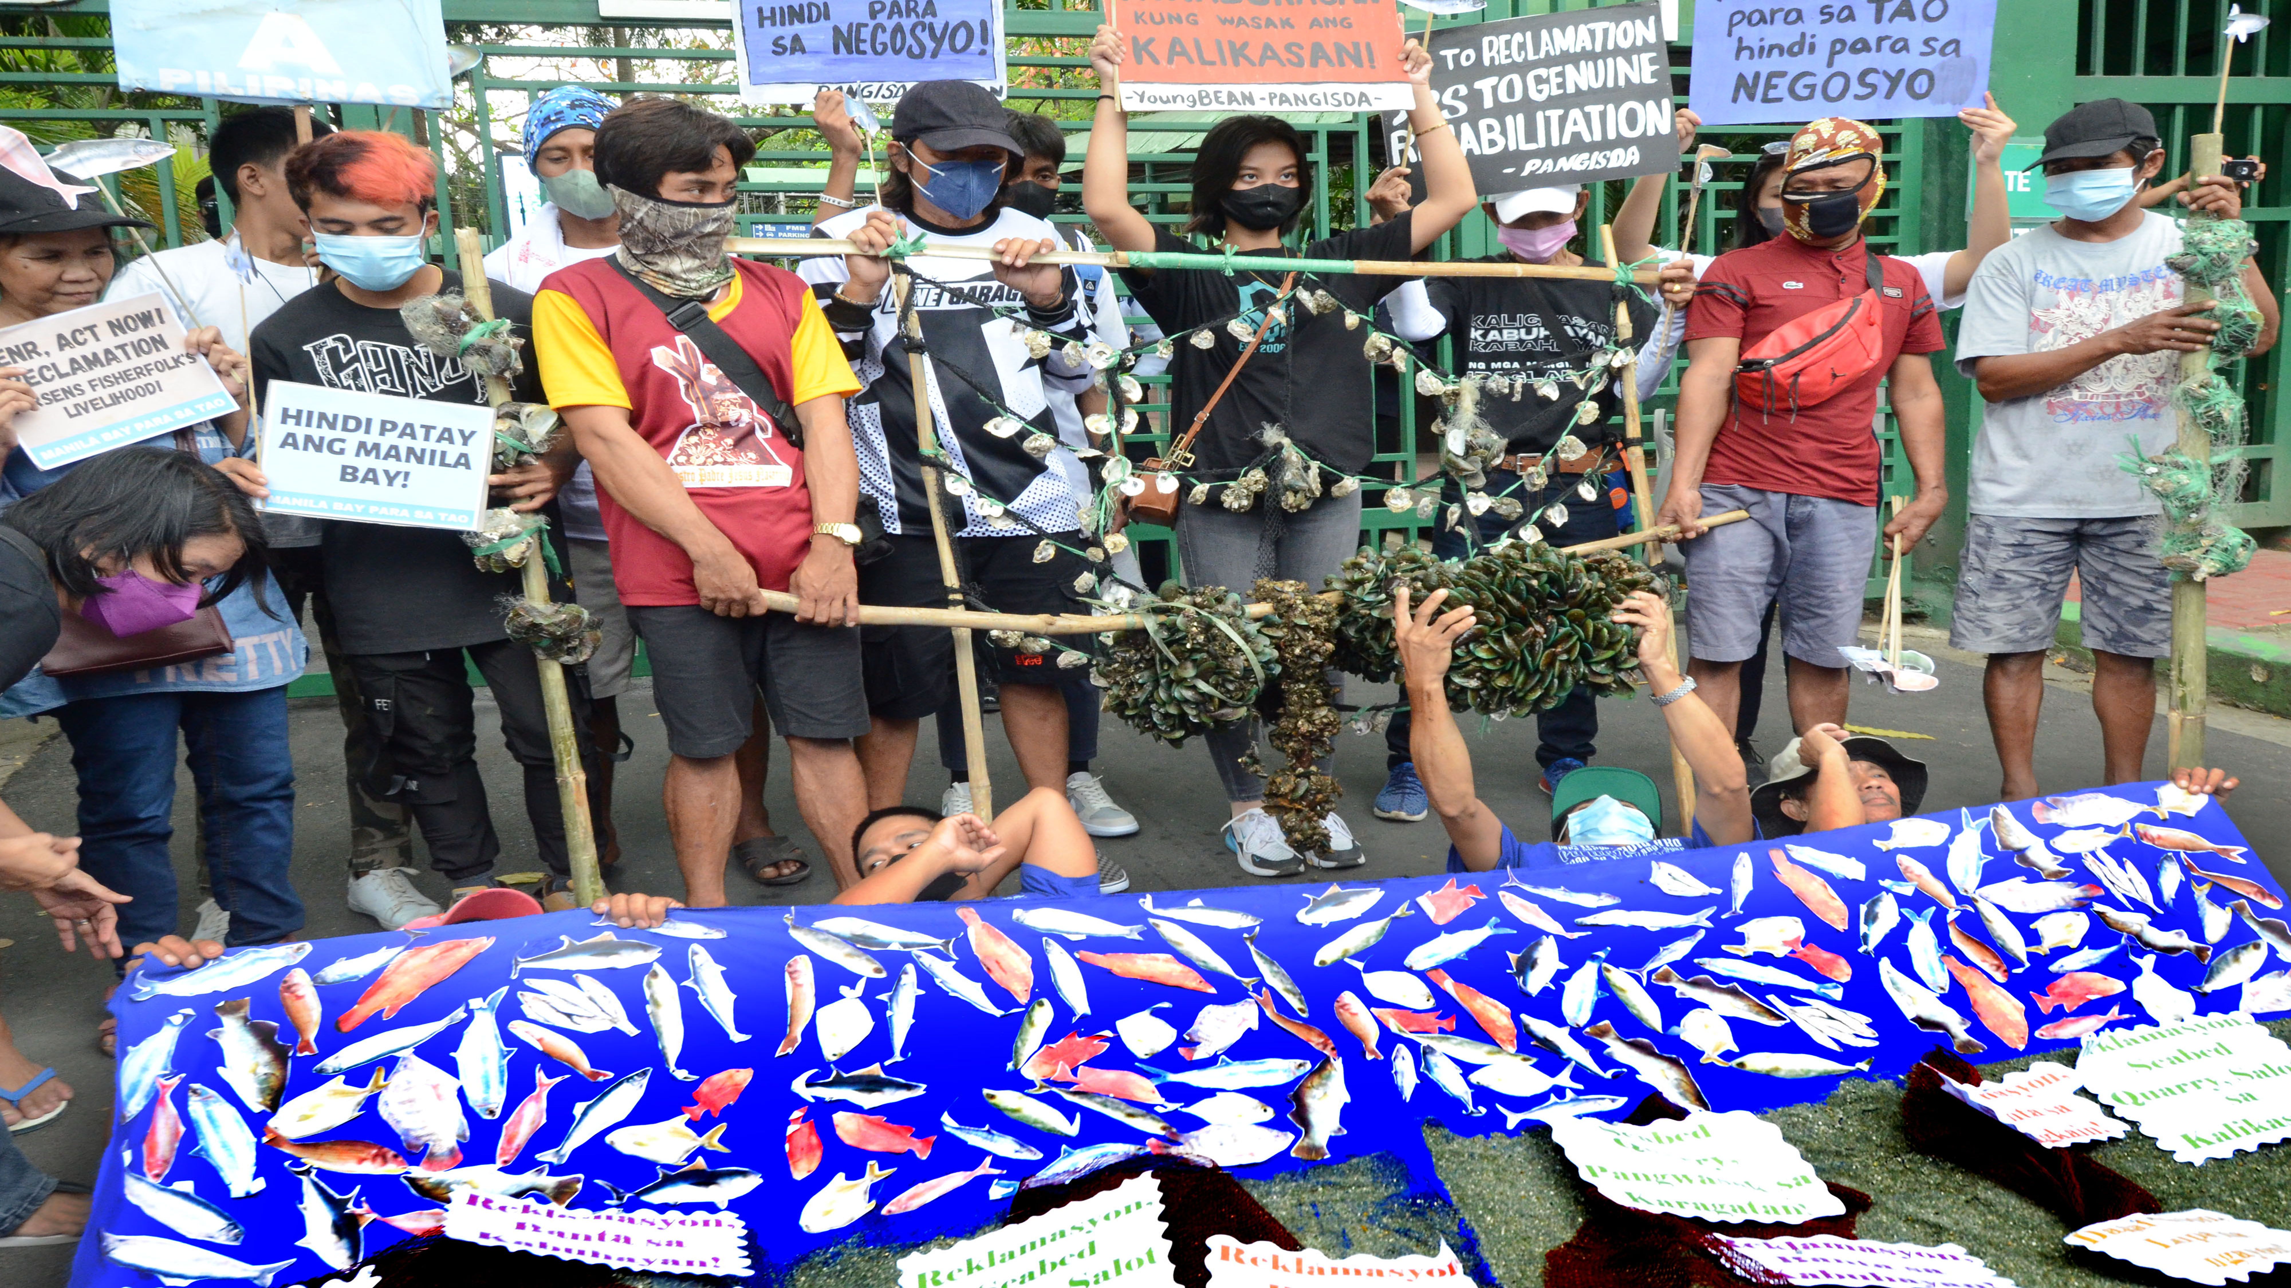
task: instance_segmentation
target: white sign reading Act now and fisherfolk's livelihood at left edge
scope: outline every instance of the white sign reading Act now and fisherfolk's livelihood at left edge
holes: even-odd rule
[[[0,367],[39,399],[16,440],[41,470],[238,410],[156,291],[0,330]]]

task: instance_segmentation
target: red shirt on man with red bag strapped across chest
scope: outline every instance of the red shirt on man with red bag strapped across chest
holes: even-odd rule
[[[1702,470],[1705,484],[1876,504],[1876,387],[1897,355],[1936,353],[1943,346],[1940,314],[1924,293],[1924,277],[1904,259],[1881,257],[1881,266],[1883,360],[1810,408],[1782,406],[1766,413],[1732,399]],[[1748,351],[1785,323],[1867,289],[1867,241],[1819,250],[1794,236],[1778,236],[1748,250],[1730,250],[1695,286],[1695,300],[1686,309],[1686,341],[1730,337]]]

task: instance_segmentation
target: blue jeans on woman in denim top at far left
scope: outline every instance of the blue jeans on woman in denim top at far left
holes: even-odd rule
[[[179,926],[167,857],[176,731],[199,793],[202,857],[215,903],[231,914],[229,944],[268,944],[302,928],[302,898],[286,878],[293,857],[286,685],[101,697],[55,715],[80,775],[80,866],[135,896],[119,905],[119,942],[158,940]]]

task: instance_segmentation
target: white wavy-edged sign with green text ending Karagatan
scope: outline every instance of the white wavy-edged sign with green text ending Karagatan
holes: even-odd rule
[[[1560,1118],[1551,1141],[1599,1194],[1643,1212],[1798,1224],[1847,1210],[1782,1128],[1739,1109],[1643,1128]]]

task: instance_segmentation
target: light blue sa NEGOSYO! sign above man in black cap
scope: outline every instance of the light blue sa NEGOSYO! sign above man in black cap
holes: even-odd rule
[[[997,0],[745,0],[731,30],[749,103],[891,103],[921,80],[1003,92]]]

